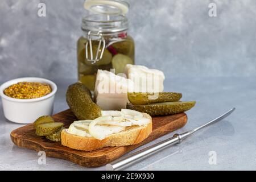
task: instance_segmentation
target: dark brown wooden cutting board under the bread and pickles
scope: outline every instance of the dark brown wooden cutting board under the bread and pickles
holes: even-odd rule
[[[56,122],[63,122],[65,127],[69,127],[73,121],[77,120],[71,110],[65,110],[55,114],[53,115],[53,118]],[[80,166],[99,167],[112,162],[145,143],[151,142],[156,138],[162,137],[171,131],[183,127],[187,123],[187,115],[181,113],[164,117],[154,117],[152,118],[152,122],[152,133],[147,139],[139,144],[123,147],[105,147],[91,152],[73,150],[72,148],[62,146],[60,142],[51,142],[44,137],[38,137],[35,135],[33,124],[12,131],[11,140],[19,147],[29,148],[35,151],[45,151],[46,155],[49,157],[69,160]]]

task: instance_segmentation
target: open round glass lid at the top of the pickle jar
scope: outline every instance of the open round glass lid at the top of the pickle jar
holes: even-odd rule
[[[125,15],[129,10],[129,3],[123,0],[86,0],[84,8],[96,14]]]

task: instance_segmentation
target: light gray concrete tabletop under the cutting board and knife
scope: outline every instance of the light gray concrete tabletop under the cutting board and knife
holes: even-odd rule
[[[57,113],[67,109],[65,90],[75,80],[53,80],[59,90],[55,100]],[[166,91],[183,93],[183,101],[195,100],[196,106],[187,112],[188,123],[176,132],[183,132],[216,118],[236,107],[236,111],[207,129],[199,131],[178,146],[167,148],[128,169],[134,170],[245,170],[256,169],[256,84],[255,77],[170,78]],[[0,103],[1,104],[1,103]],[[14,146],[10,132],[22,125],[6,121],[0,106],[0,170],[98,170],[71,162],[47,158],[38,164],[38,153]],[[174,133],[147,144],[154,144]],[[142,146],[144,148],[146,146]],[[136,151],[136,150],[135,150]],[[216,152],[217,164],[210,165],[210,151]]]

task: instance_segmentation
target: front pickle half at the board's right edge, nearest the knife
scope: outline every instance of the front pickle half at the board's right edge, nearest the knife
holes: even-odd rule
[[[127,109],[133,109],[151,116],[156,115],[172,115],[183,113],[195,106],[196,102],[160,102],[148,105],[127,104]]]

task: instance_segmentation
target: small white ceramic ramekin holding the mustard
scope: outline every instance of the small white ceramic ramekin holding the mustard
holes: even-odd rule
[[[41,82],[51,85],[52,92],[46,96],[32,99],[18,99],[6,96],[3,93],[7,87],[18,82]],[[2,97],[3,113],[6,119],[15,123],[32,123],[42,115],[51,115],[53,111],[53,101],[57,86],[50,80],[36,77],[17,78],[5,82],[0,86],[0,96]]]

